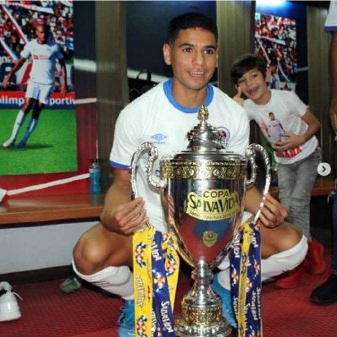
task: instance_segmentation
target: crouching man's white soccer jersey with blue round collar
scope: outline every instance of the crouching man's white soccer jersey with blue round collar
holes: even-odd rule
[[[133,153],[143,142],[151,142],[159,152],[154,163],[154,179],[159,179],[159,159],[173,151],[185,150],[187,132],[199,123],[198,108],[186,108],[171,94],[172,80],[158,84],[129,105],[119,114],[111,150],[111,165],[128,169]],[[249,123],[244,109],[218,88],[208,85],[205,104],[208,122],[223,134],[226,149],[244,154],[249,141]],[[148,156],[139,162],[137,173],[138,194],[145,200],[150,222],[157,230],[165,232],[164,216],[158,192],[150,189],[145,174]]]

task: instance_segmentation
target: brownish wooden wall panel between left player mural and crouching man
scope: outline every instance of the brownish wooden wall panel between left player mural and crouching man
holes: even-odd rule
[[[103,190],[111,184],[109,157],[118,113],[128,103],[126,4],[96,1],[97,134]]]

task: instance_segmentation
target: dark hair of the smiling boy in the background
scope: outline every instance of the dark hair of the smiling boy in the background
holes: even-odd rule
[[[247,71],[257,69],[262,72],[263,77],[266,77],[267,64],[265,60],[256,54],[244,54],[238,57],[231,67],[232,81],[237,84]]]

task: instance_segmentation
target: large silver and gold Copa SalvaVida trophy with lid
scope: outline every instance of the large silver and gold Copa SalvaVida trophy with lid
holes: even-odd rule
[[[262,154],[266,168],[264,195],[270,186],[270,164],[266,150],[258,144],[248,147],[246,157],[226,151],[221,133],[207,123],[206,106],[200,108],[198,118],[200,123],[187,135],[187,149],[161,158],[159,181],[152,177],[158,150],[151,143],[143,143],[132,158],[131,185],[136,197],[137,162],[148,151],[148,183],[160,190],[168,231],[174,235],[180,255],[194,268],[195,282],[183,297],[181,317],[175,321],[176,335],[224,337],[231,334],[231,327],[222,316],[222,301],[211,286],[212,269],[227,255],[240,229],[246,188],[256,180],[255,151]]]

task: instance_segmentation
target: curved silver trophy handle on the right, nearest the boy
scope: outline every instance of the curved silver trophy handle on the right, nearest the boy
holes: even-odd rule
[[[250,161],[252,165],[252,175],[251,175],[251,178],[246,182],[246,186],[250,188],[254,185],[256,181],[256,169],[258,167],[255,162],[256,151],[260,152],[263,157],[263,162],[265,164],[265,169],[266,169],[266,180],[265,180],[265,187],[262,192],[261,205],[253,220],[254,223],[257,222],[257,220],[259,219],[259,216],[261,213],[261,207],[263,207],[263,200],[264,200],[265,195],[268,194],[269,192],[270,182],[271,182],[271,166],[270,166],[270,160],[269,160],[267,151],[262,145],[251,144],[248,146],[246,150],[246,157],[248,158],[248,160]]]

